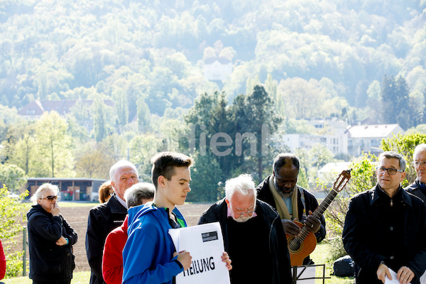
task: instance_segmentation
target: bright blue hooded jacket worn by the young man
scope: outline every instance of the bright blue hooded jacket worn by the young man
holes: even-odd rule
[[[184,220],[178,209],[176,217]],[[129,209],[129,229],[123,250],[123,283],[173,283],[173,277],[183,271],[173,257],[175,246],[168,234],[172,229],[168,213],[151,202]],[[185,226],[187,226],[185,222]]]

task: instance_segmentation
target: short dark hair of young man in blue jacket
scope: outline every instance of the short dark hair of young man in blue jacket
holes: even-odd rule
[[[155,186],[155,190],[157,189],[158,177],[160,175],[163,175],[167,180],[171,180],[175,174],[175,167],[190,168],[193,162],[192,158],[181,153],[162,152],[155,155],[151,159],[151,163],[153,163],[151,180]]]

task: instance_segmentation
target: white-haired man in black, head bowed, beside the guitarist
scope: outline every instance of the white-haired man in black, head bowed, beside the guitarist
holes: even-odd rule
[[[225,251],[232,259],[231,283],[292,283],[280,216],[257,200],[251,175],[227,180],[225,194],[202,214],[198,224],[221,224]]]

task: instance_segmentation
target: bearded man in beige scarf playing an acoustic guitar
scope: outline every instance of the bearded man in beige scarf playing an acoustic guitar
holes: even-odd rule
[[[317,199],[297,185],[299,168],[300,162],[296,155],[281,153],[273,161],[273,174],[256,188],[258,199],[270,204],[280,214],[288,238],[292,266],[312,264],[309,254],[326,234],[324,217],[312,214],[318,207]],[[302,231],[307,234],[302,245],[297,246],[295,251],[290,250],[290,240]]]

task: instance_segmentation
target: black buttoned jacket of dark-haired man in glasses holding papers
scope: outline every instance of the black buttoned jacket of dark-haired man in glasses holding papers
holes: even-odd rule
[[[342,234],[344,249],[361,268],[356,283],[379,284],[381,261],[398,272],[407,266],[419,282],[426,269],[426,207],[402,187],[391,199],[376,185],[349,203]]]

